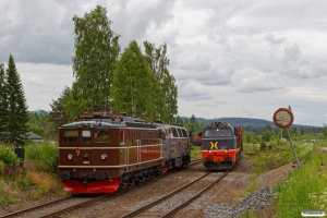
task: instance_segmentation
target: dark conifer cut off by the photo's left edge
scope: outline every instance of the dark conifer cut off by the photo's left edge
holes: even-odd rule
[[[8,118],[8,105],[7,105],[7,93],[5,93],[5,77],[4,77],[4,65],[0,64],[0,144],[4,141],[7,135],[7,118]]]

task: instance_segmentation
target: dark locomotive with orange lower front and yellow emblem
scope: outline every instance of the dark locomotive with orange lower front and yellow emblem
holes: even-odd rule
[[[243,149],[242,129],[226,122],[208,124],[202,134],[202,160],[208,170],[230,169]]]

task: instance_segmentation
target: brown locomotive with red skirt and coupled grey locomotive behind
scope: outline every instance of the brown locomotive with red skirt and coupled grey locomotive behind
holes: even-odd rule
[[[184,128],[116,116],[111,108],[59,129],[59,175],[72,193],[112,193],[190,160]]]

